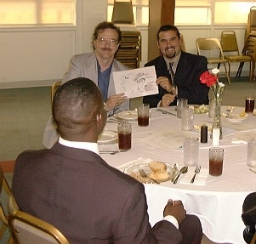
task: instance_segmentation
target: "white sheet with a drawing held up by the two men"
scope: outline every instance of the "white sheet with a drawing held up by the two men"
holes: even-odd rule
[[[113,72],[113,79],[116,94],[124,93],[129,99],[158,94],[154,66]]]

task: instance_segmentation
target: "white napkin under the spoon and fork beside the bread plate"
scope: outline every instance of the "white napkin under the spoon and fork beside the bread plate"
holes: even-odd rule
[[[191,179],[195,174],[196,167],[189,167],[188,173],[183,173],[179,176],[179,184],[196,184],[196,185],[205,185],[206,180],[208,179],[209,170],[208,168],[202,168],[200,173],[196,173],[196,178],[194,183],[191,183]]]

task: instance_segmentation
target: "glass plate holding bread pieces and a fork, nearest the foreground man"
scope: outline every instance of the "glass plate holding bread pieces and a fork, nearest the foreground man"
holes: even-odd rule
[[[156,179],[158,182],[165,182],[171,179],[174,179],[176,175],[179,173],[177,169],[174,168],[174,166],[168,164],[165,162],[165,165],[167,167],[166,171],[169,174],[169,177],[167,179]],[[147,178],[143,178],[139,174],[139,168],[143,168],[146,175],[148,176]],[[149,183],[149,184],[154,184],[154,181],[150,179],[151,173],[151,168],[149,167],[149,163],[145,162],[135,162],[128,167],[124,168],[123,173],[127,173],[128,175],[132,176],[134,179],[137,179],[141,183]]]

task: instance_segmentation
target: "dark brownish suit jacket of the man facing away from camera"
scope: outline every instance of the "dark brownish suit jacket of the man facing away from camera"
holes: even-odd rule
[[[143,184],[92,151],[57,143],[18,156],[13,193],[22,211],[57,227],[71,244],[180,243],[166,220],[149,224]]]

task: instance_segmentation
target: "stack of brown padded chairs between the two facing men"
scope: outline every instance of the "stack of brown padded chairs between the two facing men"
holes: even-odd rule
[[[120,27],[122,42],[116,53],[116,60],[129,68],[139,68],[141,60],[141,36],[134,26],[133,3],[114,2],[112,23]]]

